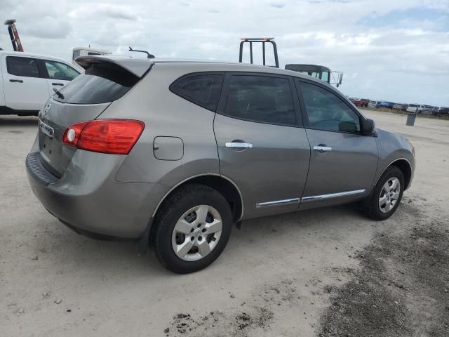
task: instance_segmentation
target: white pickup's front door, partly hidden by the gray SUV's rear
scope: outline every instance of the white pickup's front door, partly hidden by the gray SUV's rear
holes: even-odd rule
[[[41,62],[42,67],[46,72],[46,82],[50,93],[53,93],[53,88],[60,90],[62,86],[65,86],[69,81],[72,81],[72,79],[80,74],[74,67],[63,62],[45,59],[41,59],[39,62]]]

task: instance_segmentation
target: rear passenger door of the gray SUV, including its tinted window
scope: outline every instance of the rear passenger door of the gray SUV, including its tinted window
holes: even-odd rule
[[[228,73],[215,115],[220,173],[236,183],[243,218],[295,211],[310,147],[293,79]]]

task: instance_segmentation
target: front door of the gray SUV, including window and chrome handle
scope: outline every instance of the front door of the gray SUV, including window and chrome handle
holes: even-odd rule
[[[375,137],[361,134],[361,116],[332,89],[310,81],[296,84],[311,146],[301,209],[365,196],[377,169]]]

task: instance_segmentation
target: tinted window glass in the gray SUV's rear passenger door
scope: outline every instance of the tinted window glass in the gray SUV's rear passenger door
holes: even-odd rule
[[[295,125],[290,81],[279,77],[232,76],[225,114],[250,121]]]

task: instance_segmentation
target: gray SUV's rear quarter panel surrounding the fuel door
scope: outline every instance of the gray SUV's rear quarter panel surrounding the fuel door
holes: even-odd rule
[[[99,117],[145,122],[145,130],[116,174],[116,180],[173,187],[199,174],[220,174],[213,133],[215,113],[169,90],[175,79],[201,70],[204,71],[204,67],[157,63],[138,85]],[[181,138],[184,144],[182,158],[156,159],[153,152],[156,137]]]

